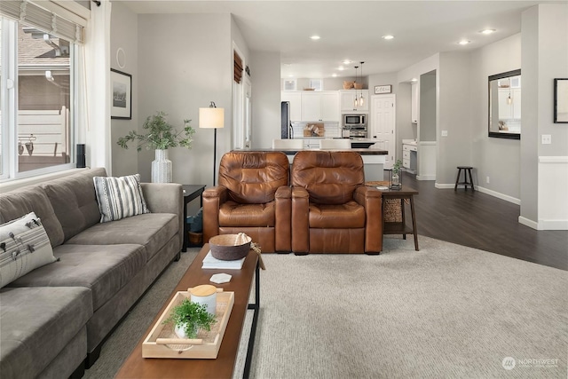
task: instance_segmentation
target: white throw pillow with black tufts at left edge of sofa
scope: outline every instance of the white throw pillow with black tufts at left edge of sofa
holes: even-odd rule
[[[0,288],[55,261],[50,239],[36,213],[0,225]]]

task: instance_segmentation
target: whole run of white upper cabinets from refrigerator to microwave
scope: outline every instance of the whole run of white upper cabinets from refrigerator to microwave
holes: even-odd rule
[[[339,121],[337,91],[282,91],[280,98],[290,102],[290,119],[293,122]]]

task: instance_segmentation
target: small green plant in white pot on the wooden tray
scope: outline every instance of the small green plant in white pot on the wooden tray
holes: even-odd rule
[[[209,332],[216,322],[216,316],[207,312],[206,305],[193,303],[190,299],[184,299],[173,307],[170,317],[163,321],[174,326],[178,337],[189,339],[195,338],[200,329]]]

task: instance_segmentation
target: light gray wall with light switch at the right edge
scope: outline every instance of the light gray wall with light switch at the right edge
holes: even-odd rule
[[[521,217],[535,222],[540,218],[539,187],[555,185],[554,178],[535,180],[540,178],[539,156],[568,155],[568,128],[553,122],[554,78],[568,77],[567,15],[565,4],[542,4],[525,11],[522,19],[521,165],[534,175],[521,177]],[[552,144],[541,145],[542,134],[550,134]]]

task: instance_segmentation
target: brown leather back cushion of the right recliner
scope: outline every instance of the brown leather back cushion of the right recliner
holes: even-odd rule
[[[292,186],[304,187],[316,204],[344,204],[365,182],[363,159],[356,152],[301,151],[292,163]]]

